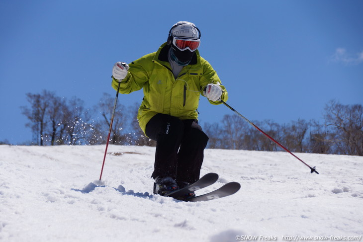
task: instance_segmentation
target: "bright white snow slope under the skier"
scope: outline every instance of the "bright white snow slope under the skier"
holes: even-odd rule
[[[205,150],[211,191],[236,194],[181,202],[152,194],[155,148],[0,146],[0,241],[235,242],[361,239],[363,157]],[[348,238],[358,237],[358,238]],[[306,239],[306,238],[305,238]]]

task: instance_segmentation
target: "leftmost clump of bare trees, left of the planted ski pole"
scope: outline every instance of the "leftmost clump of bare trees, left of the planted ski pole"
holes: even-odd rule
[[[26,95],[30,107],[22,106],[21,109],[30,120],[26,126],[32,129],[35,144],[53,146],[85,143],[85,121],[90,117],[81,99],[74,97],[67,102],[65,98],[47,90]]]

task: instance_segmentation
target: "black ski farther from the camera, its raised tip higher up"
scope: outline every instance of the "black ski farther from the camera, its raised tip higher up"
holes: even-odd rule
[[[179,199],[180,197],[184,196],[185,194],[187,194],[189,192],[194,192],[196,190],[210,186],[217,180],[218,180],[218,174],[207,173],[204,176],[202,176],[199,180],[197,180],[196,182],[194,182],[186,187],[183,187],[179,190],[167,193],[165,196]]]

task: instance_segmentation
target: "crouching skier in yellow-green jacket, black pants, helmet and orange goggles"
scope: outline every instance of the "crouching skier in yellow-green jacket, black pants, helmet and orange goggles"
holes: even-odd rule
[[[180,21],[158,51],[129,65],[117,62],[112,70],[112,87],[119,86],[120,93],[143,88],[137,118],[145,135],[157,142],[154,194],[166,195],[199,179],[208,142],[197,120],[199,95],[211,104],[228,99],[217,73],[200,57],[199,45],[199,29]]]

